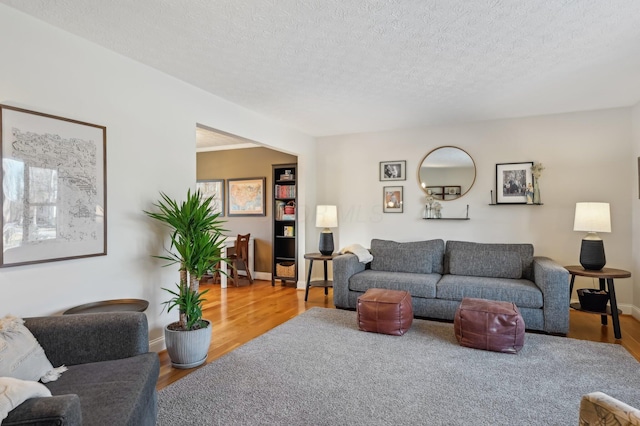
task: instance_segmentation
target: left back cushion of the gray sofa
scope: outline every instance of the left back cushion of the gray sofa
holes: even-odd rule
[[[431,253],[424,250],[408,248],[378,247],[371,248],[374,271],[409,272],[414,274],[430,274],[432,271]]]

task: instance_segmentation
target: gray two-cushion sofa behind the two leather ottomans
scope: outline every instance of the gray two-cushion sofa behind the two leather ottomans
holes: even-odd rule
[[[406,290],[416,317],[453,320],[464,297],[513,302],[528,330],[569,331],[569,273],[531,244],[371,241],[373,260],[333,259],[333,301],[355,309],[369,288]]]

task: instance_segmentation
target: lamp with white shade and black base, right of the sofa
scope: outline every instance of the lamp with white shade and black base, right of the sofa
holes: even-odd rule
[[[599,271],[606,265],[604,243],[597,232],[611,232],[609,203],[576,203],[574,231],[587,231],[580,247],[580,264],[584,269]]]

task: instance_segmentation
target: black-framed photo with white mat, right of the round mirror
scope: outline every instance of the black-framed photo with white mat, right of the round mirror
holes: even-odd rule
[[[496,204],[527,204],[533,193],[533,161],[496,164]]]

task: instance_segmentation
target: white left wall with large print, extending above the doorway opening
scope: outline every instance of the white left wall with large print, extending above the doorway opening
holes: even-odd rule
[[[0,103],[107,127],[108,182],[108,255],[1,269],[0,315],[143,298],[159,339],[175,319],[160,313],[161,287],[177,272],[150,257],[166,235],[142,210],[159,191],[182,198],[195,186],[196,123],[298,155],[302,194],[315,175],[312,138],[4,5],[0,53]]]

